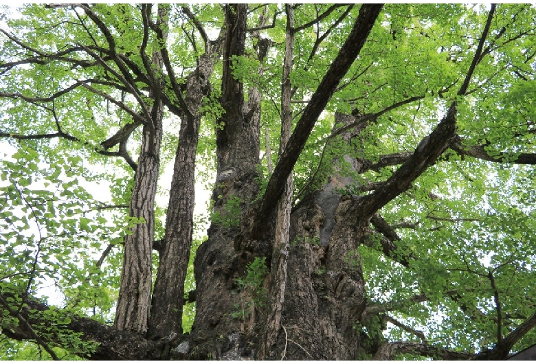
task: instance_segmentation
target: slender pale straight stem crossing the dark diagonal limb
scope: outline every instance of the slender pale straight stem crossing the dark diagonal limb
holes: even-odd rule
[[[285,52],[283,60],[283,77],[281,86],[281,141],[279,157],[282,156],[284,147],[287,145],[292,129],[291,109],[291,79],[292,57],[294,47],[294,8],[286,4],[287,30]],[[281,329],[281,314],[284,305],[284,293],[287,287],[287,259],[289,255],[289,227],[292,207],[292,174],[287,178],[283,194],[278,202],[276,212],[276,234],[273,242],[272,260],[270,269],[270,292],[269,306],[265,320],[265,332],[260,341],[257,359],[265,359],[269,356],[272,345],[276,343]]]

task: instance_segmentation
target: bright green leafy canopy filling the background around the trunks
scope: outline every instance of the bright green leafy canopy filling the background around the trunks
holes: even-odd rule
[[[321,21],[300,28],[330,6],[307,3],[295,9],[298,30],[291,72],[294,122],[331,66],[359,11],[359,5],[340,6]],[[188,8],[214,40],[223,23],[222,5],[190,4]],[[473,60],[488,8],[484,4],[386,5],[294,167],[293,201],[297,203],[307,193],[322,188],[333,172],[355,181],[337,190],[341,194],[368,194],[370,190],[364,187],[391,177],[400,163],[358,174],[344,156],[370,164],[379,163],[386,155],[415,150],[451,102],[459,98],[457,92]],[[271,23],[277,12],[273,27],[259,31],[272,45],[263,62],[254,56],[255,37],[248,38],[245,56],[234,59],[234,77],[244,82],[245,90],[257,87],[262,94],[258,166],[262,193],[271,174],[267,153],[276,165],[280,148],[286,19],[278,4],[267,5],[265,14],[263,6],[256,4],[251,9],[250,28],[263,18]],[[117,52],[143,67],[139,6],[98,4],[93,11],[113,32]],[[110,75],[119,71],[115,63],[108,62],[109,69],[104,69],[84,49],[43,62],[26,60],[38,52],[54,54],[80,45],[107,44],[80,8],[23,5],[19,10],[3,8],[0,19],[5,21],[5,26],[0,26],[6,29],[0,36],[0,149],[6,150],[0,157],[0,288],[43,300],[58,295],[51,297],[58,310],[34,313],[57,315],[46,318],[58,323],[54,334],[60,339],[54,350],[62,358],[76,359],[77,354],[89,352],[91,345],[81,343],[77,333],[67,332],[62,320],[68,312],[76,312],[102,323],[113,322],[122,242],[135,224],[145,223],[129,216],[133,169],[124,158],[107,155],[110,150],[102,146],[120,128],[136,122],[133,114],[139,112],[139,103],[119,80],[109,81]],[[408,266],[386,257],[380,234],[361,244],[359,254],[348,255],[348,264],[363,265],[370,304],[389,306],[383,313],[398,323],[383,328],[372,319],[359,329],[377,337],[383,332],[390,341],[420,341],[415,332],[407,330],[411,326],[423,331],[429,341],[477,352],[492,348],[496,342],[495,295],[500,297],[504,315],[504,336],[534,315],[536,173],[530,164],[511,163],[522,153],[536,153],[534,19],[533,5],[498,5],[469,91],[459,98],[456,123],[463,148],[481,146],[487,159],[496,158],[500,163],[449,149],[410,190],[379,211],[401,238],[394,258],[409,257]],[[203,54],[202,37],[179,5],[172,5],[169,31],[172,66],[181,75],[179,84],[184,84]],[[6,34],[14,34],[18,42]],[[157,49],[154,35],[150,35],[146,55],[150,57]],[[73,60],[78,63],[74,65]],[[215,130],[221,128],[216,122],[223,114],[219,104],[221,69],[220,61],[201,107],[197,181],[209,188],[216,166]],[[145,81],[136,78],[136,82],[143,89]],[[69,92],[63,93],[67,88]],[[178,104],[170,84],[164,92]],[[56,97],[49,100],[52,95]],[[152,102],[147,95],[142,97],[148,104]],[[415,100],[369,120],[351,144],[332,136],[339,128],[335,112],[380,113],[410,98]],[[112,100],[121,100],[124,107]],[[181,120],[169,110],[165,116],[160,161],[161,175],[167,177]],[[58,135],[50,137],[54,133]],[[21,137],[36,135],[48,136]],[[134,161],[141,139],[138,127],[125,146]],[[164,236],[167,186],[167,182],[159,185],[158,195],[164,202],[155,207],[157,238]],[[227,198],[221,212],[212,214],[210,221],[225,229],[236,228],[243,207],[250,202],[240,196]],[[201,225],[197,226],[198,238],[208,224],[203,216],[196,218]],[[194,240],[190,262],[201,240]],[[156,267],[156,255],[154,262]],[[244,298],[236,307],[236,318],[245,319],[252,312],[248,305],[262,306],[266,274],[265,258],[256,258],[247,266],[237,288],[241,297],[252,299],[246,302]],[[194,287],[190,263],[185,292]],[[417,296],[425,299],[417,300]],[[186,332],[194,312],[194,304],[183,310]],[[0,318],[3,330],[10,322],[3,312]],[[47,334],[47,328],[36,330]],[[532,330],[514,350],[535,341]],[[60,353],[58,347],[71,351]],[[38,345],[14,343],[0,335],[0,359],[49,359],[48,355]]]

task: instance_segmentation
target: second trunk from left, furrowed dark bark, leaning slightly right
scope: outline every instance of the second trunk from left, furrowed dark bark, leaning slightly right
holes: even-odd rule
[[[184,280],[192,247],[194,216],[194,172],[203,96],[214,69],[215,49],[208,48],[199,66],[188,77],[185,102],[188,112],[181,115],[179,146],[166,216],[166,234],[160,250],[159,267],[153,293],[148,336],[153,339],[181,333]]]

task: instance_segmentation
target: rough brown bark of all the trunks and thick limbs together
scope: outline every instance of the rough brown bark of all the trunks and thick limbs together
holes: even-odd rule
[[[150,7],[142,9],[145,11],[145,35],[152,29],[158,34],[157,38],[163,40],[165,36],[162,30],[148,21]],[[159,10],[163,9],[163,6],[159,7]],[[335,5],[331,9],[335,9]],[[473,69],[481,59],[494,9],[492,6],[476,55],[458,92],[460,96],[465,95]],[[91,14],[91,8],[87,7],[86,10],[97,23],[98,19]],[[182,333],[181,314],[184,304],[183,282],[192,242],[194,167],[201,120],[198,112],[210,88],[208,80],[220,49],[208,43],[206,34],[204,37],[202,35],[205,54],[198,59],[195,71],[186,78],[186,84],[180,86],[172,72],[165,45],[161,45],[161,52],[155,53],[153,65],[157,65],[157,69],[165,65],[166,76],[177,98],[174,100],[179,106],[172,105],[169,98],[155,90],[149,93],[154,104],[144,115],[147,120],[144,120],[142,149],[130,206],[131,216],[144,218],[145,222],[135,225],[133,234],[126,237],[115,327],[76,315],[69,317],[70,321],[65,321],[65,329],[83,332],[82,339],[99,344],[91,359],[389,360],[403,353],[425,354],[441,359],[505,359],[513,345],[536,326],[536,315],[533,315],[505,337],[499,332],[498,345],[493,350],[478,355],[467,354],[436,348],[424,339],[422,343],[386,343],[381,332],[387,319],[382,313],[388,309],[381,305],[367,306],[361,257],[357,253],[359,245],[369,244],[371,234],[381,234],[381,247],[386,257],[397,259],[404,266],[410,266],[412,259],[411,255],[396,258],[394,252],[397,251],[400,238],[381,217],[379,209],[405,192],[449,147],[460,154],[496,160],[487,155],[483,146],[462,148],[461,139],[456,135],[456,102],[451,103],[443,120],[430,135],[423,138],[414,152],[381,156],[375,163],[348,155],[344,157],[357,174],[401,164],[387,181],[372,187],[357,186],[362,191],[374,192],[361,197],[342,195],[340,191],[355,185],[356,181],[342,176],[337,166],[333,166],[333,172],[327,181],[323,181],[323,187],[300,196],[300,203],[291,209],[291,171],[294,163],[317,117],[363,47],[380,10],[381,5],[361,7],[346,43],[291,134],[289,74],[295,30],[293,8],[287,5],[280,155],[265,195],[256,203],[254,201],[259,193],[256,165],[259,159],[261,96],[258,89],[250,88],[248,102],[245,102],[244,86],[232,74],[235,57],[243,56],[245,52],[248,8],[245,4],[225,5],[220,100],[225,113],[216,130],[217,177],[212,196],[212,225],[208,240],[199,247],[194,262],[197,315],[190,334]],[[193,14],[188,11],[183,8],[184,14],[195,23]],[[107,31],[102,22],[97,25],[102,32]],[[111,33],[107,34],[107,38],[110,38]],[[258,39],[257,56],[262,64],[268,45],[261,41]],[[113,48],[113,39],[109,43]],[[261,50],[261,45],[266,46],[264,50]],[[140,53],[143,52],[144,49]],[[112,51],[110,54],[115,56]],[[148,63],[148,60],[144,62]],[[150,73],[153,65],[144,65]],[[126,69],[124,73],[128,75],[129,70]],[[139,74],[137,76],[141,77]],[[154,74],[147,77],[153,81],[148,84],[156,84]],[[164,84],[157,88],[164,89]],[[182,122],[166,233],[158,244],[159,270],[150,305],[153,205],[164,104],[180,115]],[[377,115],[388,110],[386,108]],[[136,122],[141,123],[142,118],[140,116]],[[328,139],[331,141],[337,137],[350,144],[373,121],[373,115],[335,113],[335,124],[342,124],[342,127],[333,130]],[[121,142],[124,148],[124,137],[131,131],[130,127],[124,127],[117,137],[111,137],[102,145],[108,148]],[[518,162],[528,161],[526,156],[521,157]],[[265,258],[269,267],[263,286],[256,287],[264,288],[269,293],[265,302],[258,300],[252,288],[237,283],[238,279],[245,278],[247,264],[254,262],[255,258]],[[445,295],[453,301],[457,299],[456,290]],[[423,294],[415,295],[409,301],[424,302],[426,299]],[[49,308],[26,295],[8,291],[0,291],[0,303],[6,309],[1,312],[8,312],[10,317],[18,320],[13,321],[12,326],[2,334],[13,339],[36,339],[32,326],[38,323],[38,314]],[[396,321],[391,319],[390,322]],[[43,324],[43,321],[39,323]],[[424,337],[422,333],[421,336],[419,332],[412,333],[416,337]],[[48,342],[39,344],[47,348],[48,343],[53,345],[55,339],[48,337]]]

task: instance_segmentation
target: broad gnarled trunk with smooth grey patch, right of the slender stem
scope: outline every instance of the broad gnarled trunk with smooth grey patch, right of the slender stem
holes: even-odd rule
[[[350,122],[341,116],[335,123]],[[363,347],[357,326],[366,295],[356,249],[368,223],[344,218],[353,200],[335,192],[351,182],[335,173],[291,215],[283,331],[273,359],[355,360]]]

